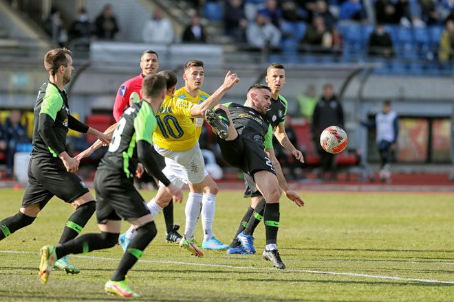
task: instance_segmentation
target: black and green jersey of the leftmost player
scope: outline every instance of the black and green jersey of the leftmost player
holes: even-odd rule
[[[65,151],[68,116],[66,91],[60,91],[55,84],[45,82],[39,89],[34,106],[32,158],[56,157]],[[50,120],[49,128],[43,128],[43,120],[49,117],[53,121]]]

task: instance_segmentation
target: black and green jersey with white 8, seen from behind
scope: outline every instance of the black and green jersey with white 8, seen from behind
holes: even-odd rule
[[[141,101],[127,108],[118,121],[109,150],[98,170],[124,172],[127,178],[133,178],[138,164],[136,144],[142,140],[153,145],[155,128],[156,118],[149,103]]]

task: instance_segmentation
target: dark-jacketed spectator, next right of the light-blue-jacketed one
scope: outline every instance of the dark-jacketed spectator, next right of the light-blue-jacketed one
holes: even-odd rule
[[[323,53],[329,51],[331,46],[332,34],[325,27],[323,17],[315,16],[312,24],[307,27],[303,40],[301,40],[301,49]]]

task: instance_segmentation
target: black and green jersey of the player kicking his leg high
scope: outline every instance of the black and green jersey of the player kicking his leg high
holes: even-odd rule
[[[256,141],[265,149],[272,148],[272,127],[263,115],[255,109],[236,103],[227,103],[233,125],[241,139]]]

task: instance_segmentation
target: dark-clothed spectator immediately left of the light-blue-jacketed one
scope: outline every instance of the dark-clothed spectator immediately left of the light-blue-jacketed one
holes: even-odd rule
[[[224,9],[224,29],[226,35],[235,38],[239,43],[246,42],[248,21],[244,14],[243,0],[227,0]]]

